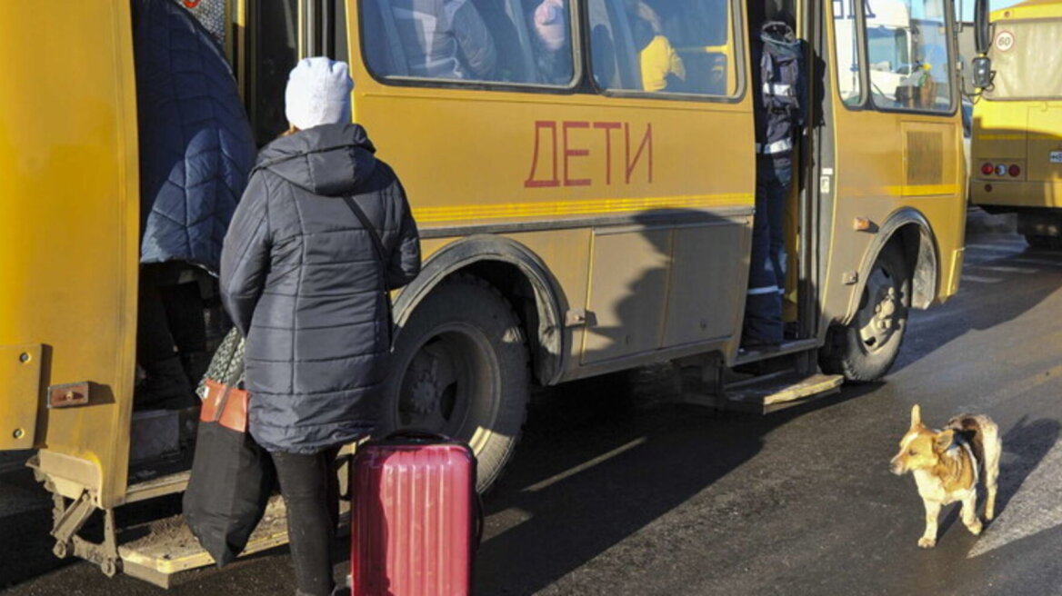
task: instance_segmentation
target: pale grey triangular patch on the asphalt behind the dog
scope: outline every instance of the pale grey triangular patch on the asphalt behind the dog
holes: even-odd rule
[[[1003,446],[1006,452],[1007,445]],[[980,557],[1012,542],[1062,526],[1062,499],[1058,497],[1059,478],[1062,477],[1062,443],[1055,443],[1021,487],[1007,486],[1007,468],[1006,464],[1000,467],[999,492],[1006,494],[1016,488],[1017,493],[977,540],[967,558]]]

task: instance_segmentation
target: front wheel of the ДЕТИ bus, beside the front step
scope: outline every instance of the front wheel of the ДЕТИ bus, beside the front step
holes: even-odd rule
[[[907,329],[911,305],[911,275],[897,244],[878,255],[859,299],[859,310],[847,326],[829,329],[819,352],[823,372],[849,381],[876,381],[889,371]]]

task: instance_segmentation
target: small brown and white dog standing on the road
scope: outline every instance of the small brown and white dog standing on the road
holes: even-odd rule
[[[1000,453],[999,428],[988,416],[963,414],[948,420],[943,431],[933,431],[922,424],[922,408],[911,408],[911,427],[900,441],[900,453],[892,458],[892,473],[914,473],[926,508],[926,531],[919,546],[937,545],[940,508],[958,501],[962,502],[962,523],[974,536],[981,533],[977,480],[984,478],[984,519],[992,521]]]

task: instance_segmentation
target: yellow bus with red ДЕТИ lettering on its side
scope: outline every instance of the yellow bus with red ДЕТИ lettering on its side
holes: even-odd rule
[[[481,488],[512,456],[533,385],[676,362],[702,370],[714,405],[766,413],[883,376],[908,309],[958,290],[950,0],[781,3],[807,50],[809,122],[786,208],[787,340],[748,352],[750,50],[780,3],[572,0],[559,33],[537,27],[537,1],[473,0],[494,42],[478,71],[428,59],[417,28],[442,25],[408,4],[225,0],[224,43],[261,143],[287,127],[299,57],[349,62],[354,119],[401,177],[425,256],[395,296],[384,425],[468,441]],[[636,21],[641,4],[655,22]],[[655,91],[647,31],[685,71]],[[56,555],[165,585],[209,559],[165,539],[122,543],[114,523],[188,478],[187,449],[144,463],[131,439],[158,422],[134,414],[131,36],[125,1],[0,3],[0,449],[34,450]],[[93,515],[101,543],[80,534]],[[249,548],[284,541],[274,524]]]

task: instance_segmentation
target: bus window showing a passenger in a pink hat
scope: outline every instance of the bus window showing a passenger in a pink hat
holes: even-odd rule
[[[362,0],[378,76],[568,86],[570,0]]]

